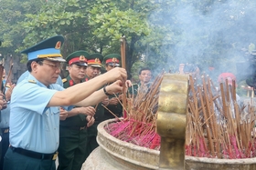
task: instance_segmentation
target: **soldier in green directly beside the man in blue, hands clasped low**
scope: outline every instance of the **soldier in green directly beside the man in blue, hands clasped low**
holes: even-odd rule
[[[77,51],[67,57],[69,75],[62,80],[64,88],[84,82],[87,68],[86,51]],[[86,90],[86,89],[85,89]],[[67,112],[66,120],[59,123],[59,166],[58,170],[80,170],[85,161],[88,126],[94,123],[94,107],[75,107]]]

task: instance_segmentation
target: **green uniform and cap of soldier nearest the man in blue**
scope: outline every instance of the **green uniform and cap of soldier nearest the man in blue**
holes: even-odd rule
[[[69,65],[87,66],[89,54],[86,51],[74,52],[67,57]],[[62,80],[64,88],[76,85],[68,75]],[[84,82],[84,79],[80,83]],[[85,89],[86,90],[86,89]],[[80,170],[85,161],[86,137],[87,137],[86,115],[79,114],[67,117],[59,123],[59,166],[58,170]]]

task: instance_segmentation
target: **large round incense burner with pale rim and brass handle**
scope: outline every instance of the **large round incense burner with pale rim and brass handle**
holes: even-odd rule
[[[96,148],[82,170],[253,170],[256,158],[226,159],[185,156],[187,129],[188,75],[164,75],[160,88],[157,133],[160,151],[124,142],[113,137],[106,127],[111,119],[98,126]],[[199,108],[198,108],[199,110]],[[190,119],[188,120],[190,121]],[[186,137],[185,137],[186,136]],[[213,143],[217,141],[213,138]]]

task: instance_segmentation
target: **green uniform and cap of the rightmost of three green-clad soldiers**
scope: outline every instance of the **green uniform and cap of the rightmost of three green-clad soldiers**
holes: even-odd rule
[[[120,61],[121,61],[121,56],[118,54],[111,54],[111,55],[106,55],[103,58],[103,62],[105,65],[111,65],[112,67],[120,66]],[[119,94],[116,95],[110,95],[109,99],[112,99],[113,97],[118,97]],[[118,103],[117,105],[107,105],[107,108],[116,116],[121,117],[123,116],[123,106]],[[104,119],[111,119],[115,118],[111,112],[105,109],[104,111]]]

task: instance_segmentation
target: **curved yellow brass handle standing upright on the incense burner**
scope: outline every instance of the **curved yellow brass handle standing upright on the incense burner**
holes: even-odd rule
[[[166,74],[160,88],[157,133],[159,169],[184,169],[188,75]]]

